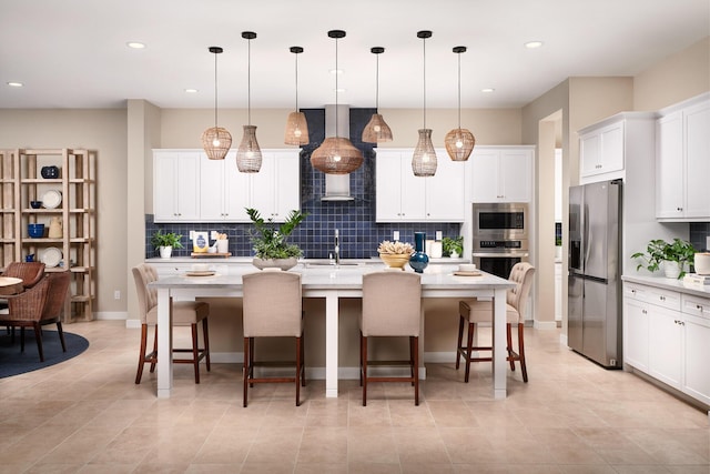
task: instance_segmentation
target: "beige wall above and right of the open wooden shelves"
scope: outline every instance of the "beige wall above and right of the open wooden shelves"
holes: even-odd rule
[[[0,109],[0,148],[97,150],[94,311],[124,312],[126,295],[126,110]],[[114,290],[121,300],[114,300]],[[133,289],[131,289],[133,290]]]

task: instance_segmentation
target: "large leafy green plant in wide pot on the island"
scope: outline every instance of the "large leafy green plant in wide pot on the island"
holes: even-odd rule
[[[295,266],[303,251],[295,243],[288,243],[288,235],[308,214],[293,210],[286,220],[277,225],[271,218],[264,220],[253,208],[247,208],[246,213],[254,224],[254,228],[248,230],[250,242],[254,249],[254,266],[278,266],[282,270]]]

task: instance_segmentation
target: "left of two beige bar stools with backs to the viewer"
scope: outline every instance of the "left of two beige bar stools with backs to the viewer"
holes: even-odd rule
[[[248,389],[255,383],[295,383],[296,406],[301,405],[301,386],[306,385],[303,337],[303,302],[301,274],[278,269],[247,273],[244,282],[244,406]],[[265,365],[254,360],[255,337],[294,337],[296,361],[294,376],[254,375],[254,367]],[[270,366],[293,366],[287,362],[270,362]]]

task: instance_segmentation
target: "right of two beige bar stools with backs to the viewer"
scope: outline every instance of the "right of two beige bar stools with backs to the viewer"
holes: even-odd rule
[[[363,311],[359,317],[359,382],[363,406],[367,406],[371,382],[409,382],[414,404],[419,404],[419,330],[422,327],[422,280],[412,272],[376,271],[363,275]],[[369,337],[405,336],[409,356],[400,361],[369,360]],[[371,375],[372,365],[407,365],[409,376]]]

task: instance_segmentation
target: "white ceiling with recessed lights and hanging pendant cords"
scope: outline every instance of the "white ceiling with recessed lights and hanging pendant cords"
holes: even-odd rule
[[[161,108],[212,108],[214,54],[220,108],[292,108],[298,56],[300,107],[339,103],[455,108],[462,54],[462,107],[518,108],[569,77],[635,75],[710,34],[708,0],[1,0],[0,108],[121,108],[145,99]],[[541,40],[529,50],[524,43]],[[141,41],[143,50],[126,48]],[[9,81],[24,83],[11,88]],[[197,93],[185,93],[195,88]],[[483,88],[495,88],[481,93]]]

